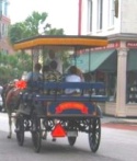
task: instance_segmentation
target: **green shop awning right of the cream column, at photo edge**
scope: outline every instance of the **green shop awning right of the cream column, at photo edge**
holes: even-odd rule
[[[137,70],[137,49],[130,49],[127,55],[127,71]]]

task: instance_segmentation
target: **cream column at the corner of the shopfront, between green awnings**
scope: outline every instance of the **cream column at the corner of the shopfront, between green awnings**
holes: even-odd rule
[[[126,64],[127,64],[126,43],[121,42],[121,48],[117,49],[117,90],[116,90],[116,111],[115,116],[126,116]]]

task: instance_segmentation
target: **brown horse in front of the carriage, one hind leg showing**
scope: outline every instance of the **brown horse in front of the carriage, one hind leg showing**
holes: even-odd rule
[[[8,113],[8,118],[9,118],[9,135],[8,138],[10,139],[12,137],[12,114],[14,110],[19,108],[20,105],[20,92],[21,89],[18,89],[14,83],[13,84],[8,84],[7,88],[4,89],[4,105],[5,105],[5,111]]]

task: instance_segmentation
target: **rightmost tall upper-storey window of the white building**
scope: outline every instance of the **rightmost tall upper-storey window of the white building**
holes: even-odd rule
[[[109,0],[109,27],[114,25],[114,0]]]

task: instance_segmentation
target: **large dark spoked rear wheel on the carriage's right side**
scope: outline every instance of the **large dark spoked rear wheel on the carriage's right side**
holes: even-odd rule
[[[89,143],[92,152],[96,152],[101,140],[101,120],[100,118],[93,118],[90,125]]]

